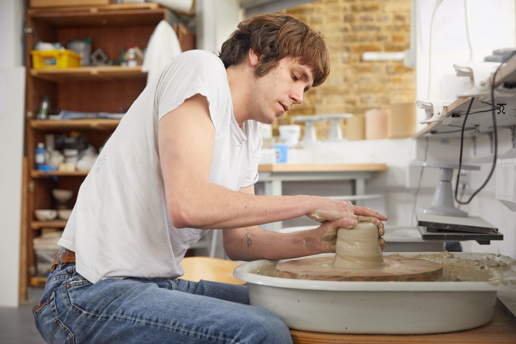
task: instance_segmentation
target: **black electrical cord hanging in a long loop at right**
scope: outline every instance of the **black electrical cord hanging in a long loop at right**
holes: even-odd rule
[[[493,78],[492,78],[492,82],[491,82],[491,106],[493,106],[493,108],[491,109],[491,117],[493,119],[493,146],[494,146],[494,150],[493,150],[493,165],[491,166],[491,171],[489,171],[489,175],[487,176],[486,178],[486,181],[483,182],[483,184],[475,191],[472,193],[472,195],[470,196],[470,198],[463,202],[462,200],[459,200],[457,198],[457,191],[459,190],[459,180],[460,180],[460,169],[462,167],[462,149],[463,149],[463,145],[464,145],[464,127],[466,125],[466,121],[467,121],[467,116],[469,116],[470,114],[470,110],[471,110],[471,106],[473,105],[473,101],[475,100],[474,97],[471,99],[471,102],[470,102],[470,105],[467,107],[467,111],[466,111],[466,115],[464,117],[464,121],[462,122],[462,130],[461,130],[461,134],[460,134],[460,154],[459,154],[459,169],[457,170],[457,181],[456,181],[456,184],[455,184],[455,201],[459,204],[469,204],[471,202],[471,200],[473,200],[473,198],[476,196],[477,193],[480,192],[480,190],[482,190],[486,185],[487,183],[489,182],[489,179],[491,179],[492,175],[493,175],[493,172],[494,172],[494,169],[496,168],[496,159],[497,159],[497,156],[498,156],[498,135],[496,133],[496,115],[494,113],[494,82],[496,80],[496,74],[498,74],[498,71],[500,70],[500,68],[502,67],[502,65],[504,65],[505,62],[507,62],[511,57],[513,57],[514,55],[516,55],[516,51],[513,51],[509,56],[507,56],[503,61],[502,63],[500,63],[500,65],[496,68],[496,71],[494,72],[493,74]]]

